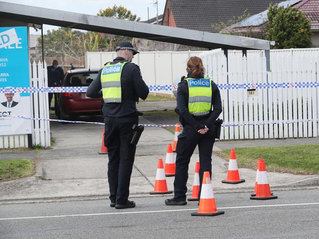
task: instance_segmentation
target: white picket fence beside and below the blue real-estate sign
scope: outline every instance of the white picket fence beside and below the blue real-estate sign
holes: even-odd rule
[[[29,63],[29,79],[31,87],[47,87],[47,64],[44,68],[39,61],[32,65]],[[31,95],[31,117],[49,119],[49,103],[47,93],[30,93]],[[29,120],[32,130],[31,142],[28,142],[28,134],[2,135],[0,136],[0,148],[20,148],[32,145],[50,147],[50,123],[44,120]],[[31,145],[30,145],[31,144]]]

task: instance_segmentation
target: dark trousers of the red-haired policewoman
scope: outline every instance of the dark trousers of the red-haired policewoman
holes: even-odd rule
[[[174,198],[177,201],[186,201],[188,164],[196,146],[199,151],[199,194],[202,188],[203,174],[205,171],[210,172],[212,178],[212,151],[215,142],[213,129],[206,134],[200,134],[190,126],[184,128],[183,132],[178,135],[176,146],[176,173],[174,180]]]

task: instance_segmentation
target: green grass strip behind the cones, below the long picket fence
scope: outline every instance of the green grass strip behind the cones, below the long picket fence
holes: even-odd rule
[[[256,169],[257,159],[264,159],[269,172],[293,174],[319,173],[319,145],[237,148],[239,167]],[[230,150],[217,152],[229,159]]]

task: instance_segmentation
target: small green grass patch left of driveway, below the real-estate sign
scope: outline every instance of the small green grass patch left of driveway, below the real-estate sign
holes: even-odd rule
[[[0,181],[19,179],[34,173],[31,159],[0,160]]]

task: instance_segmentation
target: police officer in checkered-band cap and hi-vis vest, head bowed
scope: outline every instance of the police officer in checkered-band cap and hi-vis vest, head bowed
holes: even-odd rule
[[[145,100],[149,89],[139,67],[131,62],[134,55],[139,53],[133,49],[133,45],[121,42],[116,52],[117,57],[106,63],[89,85],[86,96],[103,96],[110,206],[125,209],[135,207],[135,203],[128,198],[136,150],[136,146],[131,144],[133,125],[138,124],[136,102],[138,98]]]

